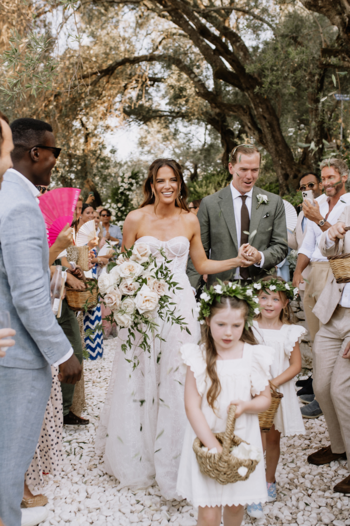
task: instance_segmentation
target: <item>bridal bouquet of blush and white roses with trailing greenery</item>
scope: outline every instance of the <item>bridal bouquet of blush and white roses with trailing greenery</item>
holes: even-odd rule
[[[157,264],[148,245],[134,245],[122,252],[116,263],[109,264],[109,274],[102,274],[98,279],[102,302],[112,311],[104,319],[110,323],[115,321],[120,328],[128,329],[128,338],[121,346],[125,353],[136,345],[151,352],[150,336],[164,341],[157,331],[159,326],[155,322],[156,316],[172,325],[177,323],[182,331],[186,330],[190,334],[184,318],[174,314],[176,304],[170,301],[168,293],[181,287],[173,281],[167,266],[171,261],[163,252],[162,256],[164,261]],[[140,334],[138,342],[136,332]],[[135,355],[128,361],[133,363],[134,369],[139,365]]]

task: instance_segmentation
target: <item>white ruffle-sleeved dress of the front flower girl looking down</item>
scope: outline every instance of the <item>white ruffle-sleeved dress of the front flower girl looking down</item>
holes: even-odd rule
[[[273,349],[263,345],[245,343],[242,358],[217,360],[216,367],[221,391],[217,398],[217,414],[207,401],[211,380],[207,376],[204,346],[188,343],[181,348],[183,361],[194,372],[199,395],[202,397],[201,410],[211,431],[225,431],[227,408],[231,400],[251,400],[269,383]],[[221,485],[199,470],[193,451],[196,434],[187,422],[181,453],[176,490],[197,508],[198,506],[232,506],[266,502],[267,489],[262,443],[257,414],[243,413],[236,420],[235,433],[261,451],[262,460],[245,481]]]

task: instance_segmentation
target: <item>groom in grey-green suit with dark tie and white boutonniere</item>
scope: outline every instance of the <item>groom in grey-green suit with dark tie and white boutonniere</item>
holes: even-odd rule
[[[261,156],[254,146],[234,148],[228,165],[231,183],[202,199],[198,219],[201,241],[210,259],[237,258],[237,267],[208,276],[207,285],[241,279],[257,281],[288,254],[287,227],[281,197],[255,187]],[[200,276],[188,260],[187,276],[194,289]]]

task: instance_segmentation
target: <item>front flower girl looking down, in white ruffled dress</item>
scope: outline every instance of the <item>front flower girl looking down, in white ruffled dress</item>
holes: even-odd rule
[[[257,298],[251,286],[229,282],[210,287],[200,302],[199,320],[206,323],[203,343],[188,343],[181,348],[187,365],[188,422],[176,490],[199,508],[200,526],[219,526],[221,507],[225,526],[239,526],[245,504],[267,501],[258,413],[266,411],[271,403],[269,369],[273,349],[258,345],[253,336],[250,325],[257,308],[254,300]],[[237,407],[235,433],[251,444],[254,458],[260,461],[247,480],[221,485],[201,474],[192,447],[197,436],[209,450],[222,451],[214,433],[225,431],[230,404]]]

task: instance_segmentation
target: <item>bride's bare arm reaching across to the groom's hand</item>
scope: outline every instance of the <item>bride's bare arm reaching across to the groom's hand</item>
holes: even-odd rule
[[[194,216],[194,214],[192,214]],[[250,266],[251,262],[245,258],[244,251],[249,247],[249,243],[242,245],[238,250],[236,258],[224,259],[217,261],[215,259],[208,259],[200,239],[200,226],[198,219],[194,216],[190,217],[193,221],[194,234],[190,240],[189,255],[197,270],[198,274],[219,274],[231,268]]]

